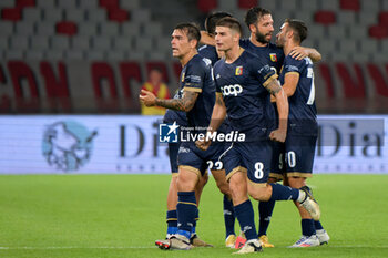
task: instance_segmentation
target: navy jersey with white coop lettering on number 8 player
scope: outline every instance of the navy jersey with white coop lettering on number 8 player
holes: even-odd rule
[[[232,130],[245,133],[247,141],[267,137],[275,125],[275,111],[263,85],[277,78],[275,71],[248,51],[231,64],[219,60],[213,70]]]

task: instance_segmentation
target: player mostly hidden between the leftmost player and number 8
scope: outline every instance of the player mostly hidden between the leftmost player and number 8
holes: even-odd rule
[[[215,24],[218,20],[225,17],[232,17],[228,12],[213,12],[206,17],[205,20],[205,29],[207,35],[214,39],[215,37]],[[212,61],[212,65],[215,64],[219,60],[219,55],[222,53],[217,53],[217,50],[214,45],[204,44],[198,49],[200,55],[207,58]],[[218,128],[218,132],[227,133],[228,123],[227,118]],[[224,223],[225,223],[225,246],[234,248],[236,241],[236,234],[234,230],[235,216],[233,209],[232,194],[229,189],[229,185],[226,182],[225,169],[223,169],[222,161],[215,164],[211,164],[211,172],[213,174],[214,179],[216,180],[217,187],[222,194],[224,194],[223,208],[224,208]],[[222,168],[222,169],[216,169]]]

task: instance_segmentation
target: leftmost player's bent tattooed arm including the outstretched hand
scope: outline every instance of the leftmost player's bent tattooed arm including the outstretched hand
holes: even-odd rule
[[[182,99],[161,100],[152,92],[142,90],[139,97],[146,106],[157,105],[170,110],[188,112],[193,109],[198,94],[200,93],[194,91],[184,91]]]

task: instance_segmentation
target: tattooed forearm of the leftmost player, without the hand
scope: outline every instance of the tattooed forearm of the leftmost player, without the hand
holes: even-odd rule
[[[161,100],[156,99],[156,105],[170,110],[188,112],[193,109],[195,101],[200,93],[192,91],[184,91],[182,99]]]

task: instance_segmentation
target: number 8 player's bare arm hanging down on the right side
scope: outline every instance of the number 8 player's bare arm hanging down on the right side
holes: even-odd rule
[[[272,95],[275,96],[277,111],[279,113],[279,127],[270,132],[269,137],[273,141],[283,143],[286,141],[287,135],[288,100],[276,79],[273,79],[268,83],[265,83],[264,86]]]

